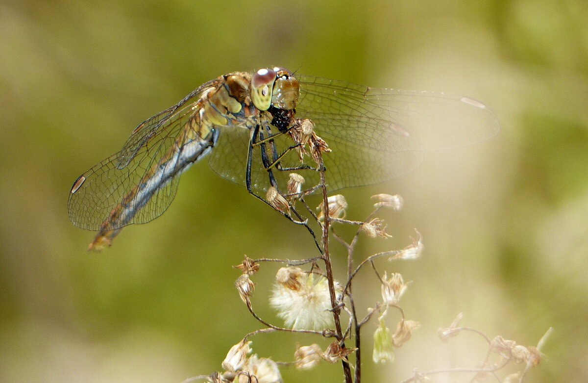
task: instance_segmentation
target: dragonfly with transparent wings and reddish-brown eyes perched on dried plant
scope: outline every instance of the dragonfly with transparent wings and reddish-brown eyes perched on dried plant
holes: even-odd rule
[[[304,137],[321,143],[336,191],[406,174],[424,152],[498,131],[492,111],[467,96],[370,88],[281,67],[232,72],[136,126],[121,151],[76,179],[68,213],[75,226],[98,231],[89,248],[99,250],[123,227],[163,214],[181,174],[205,156],[218,175],[267,203],[262,192],[284,195],[292,172],[320,182]]]

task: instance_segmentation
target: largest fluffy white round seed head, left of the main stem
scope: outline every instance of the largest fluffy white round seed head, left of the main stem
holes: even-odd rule
[[[341,289],[338,283],[336,288]],[[286,327],[324,329],[333,324],[333,315],[329,311],[329,286],[327,278],[322,275],[310,273],[290,278],[287,282],[278,282],[270,297],[270,304],[278,310],[278,317],[284,319]]]

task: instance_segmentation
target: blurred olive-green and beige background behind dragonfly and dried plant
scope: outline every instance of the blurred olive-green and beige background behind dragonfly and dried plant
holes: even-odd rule
[[[412,281],[401,303],[422,327],[395,362],[375,366],[366,326],[365,381],[473,367],[481,339],[436,338],[460,311],[463,325],[523,345],[553,326],[527,381],[588,381],[586,20],[584,0],[0,1],[0,381],[180,382],[219,370],[259,328],[231,265],[315,249],[244,188],[197,164],[161,218],[101,254],[86,252],[93,234],[69,222],[66,202],[139,122],[218,75],[272,65],[469,95],[501,121],[480,145],[344,192],[355,219],[376,192],[405,198],[382,215],[394,238],[363,238],[356,257],[405,247],[413,228],[426,245],[417,261],[378,264]],[[342,248],[333,251],[342,278]],[[255,276],[253,303],[278,323],[265,299],[276,269]],[[373,274],[360,277],[366,312],[381,298]],[[290,361],[296,342],[328,344],[270,334],[252,346]],[[288,382],[339,382],[340,371],[282,368]]]

